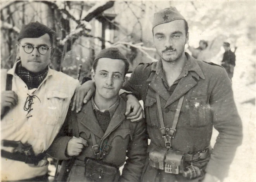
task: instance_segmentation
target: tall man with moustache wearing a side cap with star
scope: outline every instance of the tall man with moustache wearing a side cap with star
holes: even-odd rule
[[[155,13],[152,33],[161,58],[139,64],[124,87],[144,102],[150,144],[142,182],[223,181],[242,142],[227,72],[184,51],[188,30],[175,7]],[[211,149],[213,127],[219,134]]]

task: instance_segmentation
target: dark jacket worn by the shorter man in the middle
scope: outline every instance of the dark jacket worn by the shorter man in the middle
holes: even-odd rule
[[[120,97],[119,105],[104,133],[93,112],[92,100],[88,101],[88,103],[83,106],[81,112],[77,114],[80,137],[88,142],[88,146],[83,149],[76,159],[84,161],[85,157],[96,158],[92,149],[91,132],[95,134],[97,144],[100,144],[100,148],[103,148],[104,144],[107,143],[109,136],[113,135],[113,140],[111,142],[112,147],[104,161],[115,165],[118,168],[126,161],[122,175],[119,177],[118,181],[139,182],[147,150],[145,123],[144,121],[131,122],[130,120],[126,120],[125,111],[126,103]],[[72,124],[69,120],[66,120],[65,124],[69,125],[68,133],[69,135],[71,134],[71,136],[61,136],[67,134],[65,133],[66,126],[63,126],[59,137],[54,140],[52,146],[48,149],[48,153],[51,156],[61,160],[69,159],[69,156],[66,156],[65,151],[69,139],[72,138]],[[127,160],[126,156],[128,157]],[[90,181],[90,179],[85,179],[84,172],[84,167],[73,166],[69,173],[68,180]]]

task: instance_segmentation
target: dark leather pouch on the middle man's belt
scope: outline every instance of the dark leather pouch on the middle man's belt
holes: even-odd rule
[[[85,158],[85,177],[96,182],[113,182],[118,169],[102,160]]]

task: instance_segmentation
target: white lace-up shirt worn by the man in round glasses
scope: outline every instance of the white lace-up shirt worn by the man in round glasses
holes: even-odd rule
[[[15,73],[16,64],[7,73],[12,74],[12,90],[18,95],[17,105],[1,120],[1,139],[21,141],[31,144],[38,155],[52,144],[64,123],[69,103],[78,80],[62,72],[48,68],[48,74],[38,88],[28,90],[26,84]],[[5,84],[5,83],[2,83]],[[5,87],[1,87],[2,90]],[[33,104],[24,110],[28,95],[33,97]],[[27,102],[26,107],[28,107]],[[13,148],[3,147],[12,152]],[[38,166],[21,161],[1,158],[2,180],[29,179],[47,173],[48,162],[40,161]],[[43,166],[42,166],[43,165]]]

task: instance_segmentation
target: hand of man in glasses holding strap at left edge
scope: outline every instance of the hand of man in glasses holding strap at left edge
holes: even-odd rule
[[[5,107],[14,108],[17,105],[18,96],[12,91],[2,91],[1,92],[1,114],[4,112]]]

